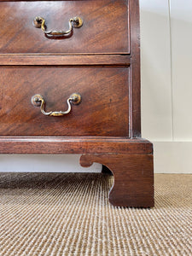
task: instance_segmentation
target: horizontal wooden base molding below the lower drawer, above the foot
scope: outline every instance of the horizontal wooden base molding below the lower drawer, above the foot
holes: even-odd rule
[[[88,147],[89,145],[89,147]],[[129,137],[0,137],[0,154],[152,154],[153,145]]]

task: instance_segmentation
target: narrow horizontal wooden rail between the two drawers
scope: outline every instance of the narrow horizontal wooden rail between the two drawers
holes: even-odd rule
[[[130,55],[0,55],[0,66],[129,66]]]

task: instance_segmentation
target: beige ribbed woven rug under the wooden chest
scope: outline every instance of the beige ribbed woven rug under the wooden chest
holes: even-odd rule
[[[1,256],[192,255],[192,175],[155,175],[155,207],[113,207],[113,177],[0,173]]]

